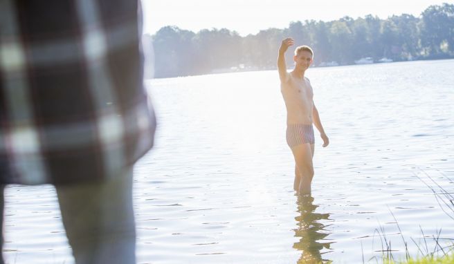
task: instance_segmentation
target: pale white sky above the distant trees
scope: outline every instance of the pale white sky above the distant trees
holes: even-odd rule
[[[144,32],[154,34],[163,26],[198,32],[228,28],[239,35],[257,34],[268,28],[287,28],[291,21],[333,21],[376,15],[386,19],[403,13],[421,15],[428,6],[453,0],[142,0]]]

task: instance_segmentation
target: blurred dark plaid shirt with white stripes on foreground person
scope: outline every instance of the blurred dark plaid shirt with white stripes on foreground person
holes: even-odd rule
[[[0,1],[0,184],[121,174],[153,144],[134,0]]]

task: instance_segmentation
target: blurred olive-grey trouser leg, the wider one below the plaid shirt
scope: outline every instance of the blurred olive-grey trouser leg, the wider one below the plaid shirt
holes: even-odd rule
[[[136,263],[131,170],[111,180],[55,189],[75,263]]]

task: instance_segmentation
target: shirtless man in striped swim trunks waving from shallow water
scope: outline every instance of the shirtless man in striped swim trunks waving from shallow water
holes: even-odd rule
[[[296,162],[293,189],[300,195],[305,195],[311,194],[311,182],[314,177],[312,158],[315,139],[312,124],[320,131],[323,147],[327,147],[329,140],[314,104],[311,82],[305,77],[305,72],[312,63],[314,52],[309,46],[297,47],[293,56],[295,67],[290,73],[287,73],[285,52],[293,44],[294,41],[291,38],[282,40],[278,55],[278,70],[280,91],[287,108],[287,144],[289,144]]]

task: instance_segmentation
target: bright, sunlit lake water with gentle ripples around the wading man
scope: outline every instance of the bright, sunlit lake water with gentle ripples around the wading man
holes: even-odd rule
[[[376,263],[387,243],[397,258],[438,232],[452,244],[453,211],[424,182],[454,193],[453,69],[309,69],[330,139],[316,133],[313,198],[293,193],[277,72],[147,82],[159,126],[134,167],[138,263]],[[8,263],[73,263],[53,187],[8,187],[5,215]]]

